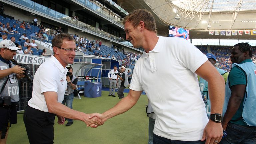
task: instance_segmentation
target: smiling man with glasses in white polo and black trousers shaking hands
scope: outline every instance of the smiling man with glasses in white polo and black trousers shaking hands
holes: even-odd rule
[[[76,44],[69,34],[59,34],[52,40],[54,55],[37,69],[33,81],[32,98],[24,113],[24,123],[30,143],[53,143],[54,119],[64,124],[65,119],[81,120],[90,127],[102,125],[99,119],[89,119],[90,114],[79,112],[61,104],[68,82],[67,64],[75,58]]]

